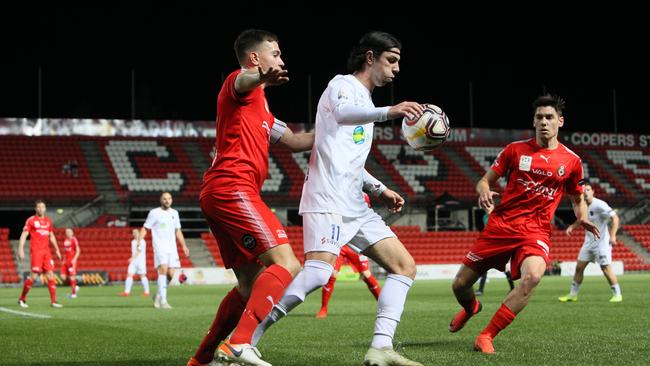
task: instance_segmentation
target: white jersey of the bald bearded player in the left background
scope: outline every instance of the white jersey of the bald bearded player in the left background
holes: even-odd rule
[[[176,229],[181,228],[178,211],[161,207],[149,211],[144,227],[151,230],[153,250],[157,253],[178,253],[176,249]]]

